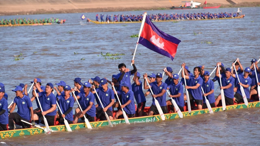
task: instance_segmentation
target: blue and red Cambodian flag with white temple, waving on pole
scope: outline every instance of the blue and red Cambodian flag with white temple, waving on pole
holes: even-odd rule
[[[138,43],[173,60],[180,42],[181,40],[158,29],[148,17],[145,18]]]

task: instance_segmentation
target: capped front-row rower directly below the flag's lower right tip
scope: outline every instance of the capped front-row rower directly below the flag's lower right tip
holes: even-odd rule
[[[174,74],[173,75],[173,83],[168,86],[168,89],[170,91],[169,97],[172,97],[176,104],[178,105],[180,111],[184,111],[184,97],[183,97],[183,86],[181,83],[179,83],[179,75]],[[172,100],[169,99],[166,101],[166,105],[170,105],[171,109],[173,109],[174,112],[176,112],[175,107],[173,106]]]

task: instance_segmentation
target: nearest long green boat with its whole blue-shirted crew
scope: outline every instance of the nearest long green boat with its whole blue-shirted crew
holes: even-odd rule
[[[252,59],[251,66],[245,68],[245,70],[243,70],[243,66],[238,58],[232,63],[231,68],[224,68],[224,64],[218,62],[212,71],[212,73],[215,72],[215,78],[212,80],[209,79],[212,73],[209,74],[208,71],[205,71],[203,65],[195,67],[192,74],[185,63],[181,65],[181,70],[178,73],[181,73],[182,80],[180,80],[177,73],[173,74],[173,70],[170,67],[163,69],[165,76],[168,76],[165,82],[162,81],[164,73],[152,73],[150,76],[147,76],[145,73],[143,75],[143,85],[144,89],[149,89],[145,94],[142,90],[141,76],[137,72],[134,60],[132,60],[134,69],[131,71],[126,68],[124,63],[119,64],[120,73],[113,75],[111,81],[106,78],[100,79],[96,76],[83,84],[81,78],[75,78],[74,88],[66,85],[63,81],[56,83],[58,87],[54,87],[52,83],[47,83],[44,88],[44,86],[41,86],[41,80],[35,78],[31,82],[32,86],[28,92],[27,84],[19,84],[19,86],[16,86],[12,90],[16,93],[16,97],[8,107],[11,109],[9,111],[10,115],[7,117],[9,119],[9,125],[7,124],[7,126],[11,127],[12,124],[10,124],[10,121],[15,121],[23,129],[1,131],[0,137],[3,139],[22,135],[51,133],[54,131],[72,131],[81,128],[113,127],[116,124],[165,121],[230,109],[260,107],[258,101],[258,94],[260,93],[260,83],[258,80],[260,77],[260,68],[257,65],[259,60]],[[129,82],[131,75],[133,75],[133,84]],[[150,78],[150,80],[147,80],[147,78]],[[221,89],[221,94],[216,99],[214,96],[214,80],[219,81]],[[236,80],[237,83],[235,83]],[[112,85],[112,89],[108,88],[108,83]],[[185,85],[186,95],[183,93],[183,84]],[[250,91],[248,89],[249,86],[251,86]],[[39,108],[35,109],[35,111],[32,111],[30,103],[33,99],[30,100],[27,96],[31,89],[33,89],[32,98],[35,99],[36,97],[39,105]],[[53,90],[57,92],[56,98]],[[235,95],[234,92],[236,92]],[[149,93],[152,93],[153,97],[152,106],[144,107],[146,102],[145,96]],[[167,93],[170,98],[169,102],[166,101]],[[121,98],[118,96],[121,96]],[[213,103],[212,97],[215,100]],[[5,98],[4,84],[0,83],[1,128],[5,124],[2,123],[5,120],[3,119],[4,114],[6,114],[6,110],[3,111],[3,109],[7,108],[7,100]],[[114,98],[118,100],[114,102]],[[94,99],[97,103],[96,106],[94,105]],[[134,100],[137,102],[137,107],[134,105]],[[185,100],[187,102],[184,102]],[[79,107],[75,109],[75,115],[73,116],[71,114],[73,104],[71,105],[71,103],[74,103],[74,101],[78,102]],[[51,106],[48,105],[50,103]],[[16,105],[18,111],[14,113]],[[56,105],[59,109],[57,112]],[[3,108],[3,106],[6,107]],[[113,111],[112,107],[118,107],[119,109]],[[20,108],[23,110],[19,110]],[[23,115],[26,111],[27,114]],[[29,113],[33,114],[33,116],[30,117]],[[54,113],[54,119],[52,119],[51,113]],[[93,113],[95,115],[92,115]],[[121,115],[123,117],[120,117]],[[59,116],[59,118],[56,116]],[[78,121],[80,118],[85,121]],[[45,124],[45,127],[35,125],[36,120],[39,119],[41,123]],[[51,123],[51,120],[55,123]],[[26,126],[24,123],[36,127],[24,128]],[[53,125],[51,126],[51,124]]]

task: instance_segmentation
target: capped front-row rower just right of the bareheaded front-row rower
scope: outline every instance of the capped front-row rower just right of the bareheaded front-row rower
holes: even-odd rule
[[[216,107],[216,100],[214,96],[214,82],[212,80],[209,80],[209,72],[204,72],[204,79],[202,83],[202,88],[204,91],[203,96],[206,96],[206,98],[209,100],[210,107]],[[203,98],[203,105],[202,109],[207,109],[206,99]]]

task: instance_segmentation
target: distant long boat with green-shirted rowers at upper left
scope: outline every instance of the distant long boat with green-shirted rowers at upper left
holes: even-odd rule
[[[0,27],[12,27],[12,26],[35,26],[35,25],[51,25],[51,24],[63,24],[66,19],[59,20],[58,18],[49,18],[49,19],[1,19]]]

